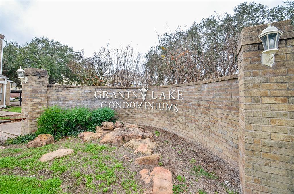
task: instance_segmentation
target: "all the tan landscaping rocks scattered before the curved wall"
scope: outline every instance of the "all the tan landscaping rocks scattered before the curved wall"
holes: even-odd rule
[[[134,149],[133,154],[141,152],[146,154],[145,156],[135,159],[135,164],[138,165],[158,165],[161,154],[153,154],[153,149],[158,147],[158,144],[153,139],[153,133],[150,131],[144,131],[143,127],[126,123],[123,121],[103,122],[102,127],[96,127],[96,133],[94,132],[82,132],[78,137],[81,137],[84,142],[88,142],[95,139],[101,139],[100,143],[110,143],[116,146],[126,146]],[[54,143],[54,137],[49,134],[38,135],[27,144],[27,147],[41,147],[47,144]],[[59,158],[74,153],[72,149],[58,149],[53,152],[44,154],[41,157],[41,161],[50,161],[54,158]],[[126,159],[128,157],[124,156]],[[131,161],[131,160],[130,160]],[[151,173],[148,169],[143,169],[140,172],[141,179],[146,183],[153,181],[153,188],[150,193],[153,194],[172,194],[173,183],[171,171],[163,169],[161,167],[155,167]]]

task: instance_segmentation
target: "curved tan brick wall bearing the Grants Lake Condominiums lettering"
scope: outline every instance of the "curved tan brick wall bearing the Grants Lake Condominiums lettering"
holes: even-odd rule
[[[146,108],[116,108],[121,120],[133,122],[139,125],[150,125],[176,133],[186,139],[197,142],[203,147],[215,152],[220,157],[234,166],[239,163],[239,102],[238,102],[238,76],[231,75],[217,79],[193,82],[188,84],[150,86],[147,92]],[[169,99],[151,99],[152,91],[154,98],[159,98],[164,91],[166,98],[169,91],[174,96]],[[178,90],[180,91],[178,100]],[[138,98],[133,99],[97,99],[96,91],[108,91],[111,97],[113,91],[137,91]],[[97,93],[99,97],[100,92]],[[103,92],[102,92],[103,96]],[[106,96],[105,96],[106,97]],[[118,97],[118,96],[117,96]],[[126,97],[126,96],[125,96]],[[163,98],[163,97],[162,97]],[[171,97],[172,98],[172,97]],[[109,102],[121,103],[142,102],[138,87],[95,87],[95,86],[60,86],[48,85],[47,107],[60,105],[63,107],[87,106],[99,108]],[[149,104],[154,103],[153,109],[148,109]],[[155,103],[165,103],[164,109],[159,110]],[[173,110],[166,111],[166,103],[173,104]],[[174,104],[177,104],[176,107]],[[159,105],[159,104],[157,104]],[[161,104],[161,109],[163,104]],[[111,108],[113,104],[110,104]],[[157,110],[156,110],[157,108]]]

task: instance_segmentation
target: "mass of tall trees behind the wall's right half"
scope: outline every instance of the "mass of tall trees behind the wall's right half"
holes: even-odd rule
[[[158,37],[159,43],[145,55],[144,69],[164,84],[201,81],[238,71],[237,46],[244,27],[279,21],[294,16],[294,1],[285,1],[269,9],[266,5],[245,1],[234,8],[234,14],[223,13],[194,22],[187,30],[181,28]]]

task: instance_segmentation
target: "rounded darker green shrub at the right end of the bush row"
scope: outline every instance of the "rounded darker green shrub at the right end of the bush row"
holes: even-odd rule
[[[102,122],[104,121],[115,122],[115,115],[115,111],[108,107],[93,110],[91,115],[91,124],[89,125],[88,129],[90,131],[95,131],[95,127],[97,125],[102,125]]]

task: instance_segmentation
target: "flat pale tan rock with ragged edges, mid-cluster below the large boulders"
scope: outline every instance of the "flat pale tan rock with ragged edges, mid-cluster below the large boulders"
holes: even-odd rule
[[[128,143],[124,144],[124,146],[131,147],[135,149],[134,154],[141,152],[143,154],[152,154],[153,148],[156,148],[158,145],[156,142],[152,142],[151,139],[132,139]]]

